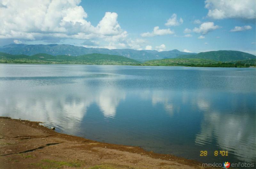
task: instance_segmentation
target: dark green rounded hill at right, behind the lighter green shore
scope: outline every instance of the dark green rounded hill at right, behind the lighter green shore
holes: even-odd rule
[[[179,55],[176,58],[198,58],[198,59],[211,59],[221,62],[239,61],[256,59],[255,55],[234,51],[234,50],[219,50],[210,52],[200,52],[196,55]]]

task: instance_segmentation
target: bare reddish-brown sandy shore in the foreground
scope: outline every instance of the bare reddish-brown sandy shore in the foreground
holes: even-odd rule
[[[196,161],[57,133],[0,117],[0,168],[203,168]]]

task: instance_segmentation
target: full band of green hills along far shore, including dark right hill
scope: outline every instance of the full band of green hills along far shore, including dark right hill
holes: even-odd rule
[[[205,53],[205,54],[204,54]],[[255,67],[254,55],[239,51],[212,51],[176,58],[155,59],[145,62],[108,54],[69,55],[11,55],[0,53],[0,63],[32,64],[97,64],[97,65],[138,65],[138,66],[191,66],[191,67]]]

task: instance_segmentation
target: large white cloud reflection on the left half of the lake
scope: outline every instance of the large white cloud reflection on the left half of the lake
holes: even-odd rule
[[[125,99],[125,92],[114,87],[95,86],[92,90],[87,84],[44,85],[20,88],[6,84],[9,92],[0,91],[0,116],[48,122],[76,131],[92,104],[98,105],[106,118],[114,118],[119,102]]]

